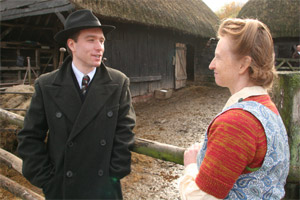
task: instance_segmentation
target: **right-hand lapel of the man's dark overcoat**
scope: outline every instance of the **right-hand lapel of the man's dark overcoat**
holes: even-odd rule
[[[77,136],[104,108],[109,97],[118,88],[118,84],[111,83],[111,77],[105,66],[97,69],[94,80],[89,88],[80,112],[72,128],[69,141]]]

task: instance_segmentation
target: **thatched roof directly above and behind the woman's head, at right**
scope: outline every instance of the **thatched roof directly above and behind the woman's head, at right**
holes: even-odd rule
[[[249,0],[238,17],[257,18],[269,27],[273,38],[300,37],[299,0]]]

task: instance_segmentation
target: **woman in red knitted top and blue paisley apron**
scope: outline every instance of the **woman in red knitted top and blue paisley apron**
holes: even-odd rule
[[[203,146],[184,154],[182,199],[281,199],[289,170],[287,133],[267,89],[274,68],[265,24],[227,19],[209,65],[231,97],[207,129]],[[199,151],[200,150],[200,151]]]

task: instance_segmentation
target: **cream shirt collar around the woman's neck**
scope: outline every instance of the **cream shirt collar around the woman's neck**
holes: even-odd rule
[[[237,103],[240,99],[245,99],[250,96],[259,96],[268,94],[267,90],[261,86],[252,86],[252,87],[245,87],[242,90],[238,91],[237,93],[233,94],[225,104],[223,110],[227,107],[232,106],[233,104]]]

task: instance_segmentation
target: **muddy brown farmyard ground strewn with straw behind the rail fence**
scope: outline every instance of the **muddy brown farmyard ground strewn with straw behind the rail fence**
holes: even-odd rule
[[[17,96],[14,98],[22,99]],[[224,88],[188,83],[187,87],[173,91],[169,99],[151,98],[146,102],[135,103],[136,137],[186,148],[204,137],[209,122],[221,111],[229,96],[229,91]],[[7,102],[13,96],[5,101],[3,98],[7,98],[7,95],[1,95],[1,102]],[[17,100],[10,101],[15,103]],[[22,102],[27,102],[27,99],[23,99]],[[14,106],[21,108],[22,104]],[[9,105],[0,106],[4,108]],[[10,137],[3,135],[2,127],[11,131],[7,133],[11,135]],[[2,148],[14,151],[16,132],[15,127],[2,122],[0,143]],[[132,173],[121,181],[124,200],[179,199],[177,182],[182,172],[181,165],[133,153]],[[21,175],[4,164],[0,164],[0,174],[40,193],[40,190],[31,187]],[[18,198],[0,188],[0,199]]]

